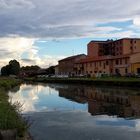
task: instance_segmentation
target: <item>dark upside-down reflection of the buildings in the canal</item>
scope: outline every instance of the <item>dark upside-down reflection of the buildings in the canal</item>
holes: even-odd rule
[[[58,88],[59,96],[79,103],[88,103],[91,115],[117,115],[118,117],[140,117],[140,96],[131,90],[107,89],[82,86]],[[137,92],[137,91],[136,91]]]

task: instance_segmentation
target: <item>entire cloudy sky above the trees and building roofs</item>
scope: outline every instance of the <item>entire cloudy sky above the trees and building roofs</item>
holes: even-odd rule
[[[0,0],[0,67],[48,67],[92,39],[140,37],[140,0]]]

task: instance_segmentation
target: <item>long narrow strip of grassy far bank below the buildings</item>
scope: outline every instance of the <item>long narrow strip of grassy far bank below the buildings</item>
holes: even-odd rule
[[[140,78],[103,77],[103,78],[25,78],[25,81],[66,84],[93,84],[103,86],[140,87]]]

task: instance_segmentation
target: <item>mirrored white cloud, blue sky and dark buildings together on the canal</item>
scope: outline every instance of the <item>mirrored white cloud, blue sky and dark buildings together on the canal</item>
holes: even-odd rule
[[[9,93],[12,102],[23,104],[25,112],[61,108],[123,118],[140,117],[139,94],[135,89],[61,84],[23,84],[19,91]]]

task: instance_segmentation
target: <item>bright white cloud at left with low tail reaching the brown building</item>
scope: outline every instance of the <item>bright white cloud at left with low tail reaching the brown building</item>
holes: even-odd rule
[[[0,67],[7,65],[12,59],[20,62],[21,66],[39,65],[49,67],[56,65],[58,60],[66,56],[40,56],[39,48],[34,45],[36,39],[25,37],[0,38]]]

